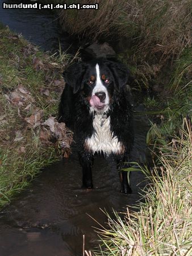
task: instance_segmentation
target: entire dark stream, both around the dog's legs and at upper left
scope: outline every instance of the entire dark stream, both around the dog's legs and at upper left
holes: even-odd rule
[[[58,20],[51,11],[2,10],[0,22],[44,51],[62,49],[77,51],[77,42],[61,32]],[[7,1],[8,2],[8,1]],[[143,111],[141,104],[135,110]],[[145,138],[149,129],[146,117],[135,117],[135,143],[132,161],[147,162]],[[108,175],[110,174],[110,175]],[[0,256],[68,256],[82,255],[83,235],[85,249],[97,245],[93,227],[106,225],[102,210],[112,214],[126,211],[127,205],[137,204],[144,175],[131,175],[131,195],[120,193],[120,181],[112,159],[97,158],[93,168],[94,189],[81,189],[81,167],[76,148],[69,159],[52,164],[41,171],[11,204],[0,212]],[[102,209],[102,210],[101,210]],[[95,220],[96,221],[95,221]]]

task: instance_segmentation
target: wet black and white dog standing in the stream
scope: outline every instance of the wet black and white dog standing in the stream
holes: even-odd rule
[[[133,142],[132,112],[123,64],[106,59],[71,65],[59,106],[59,121],[74,131],[82,166],[82,187],[93,188],[94,154],[112,155],[123,193],[131,193],[127,171],[122,171]]]

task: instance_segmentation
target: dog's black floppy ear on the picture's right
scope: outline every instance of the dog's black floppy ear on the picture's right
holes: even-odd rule
[[[114,61],[109,62],[109,67],[114,76],[116,89],[119,91],[128,81],[130,71],[126,65]]]

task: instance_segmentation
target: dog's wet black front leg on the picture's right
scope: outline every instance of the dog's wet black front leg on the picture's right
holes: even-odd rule
[[[130,194],[132,192],[130,187],[130,172],[121,171],[124,168],[127,168],[127,158],[123,157],[122,159],[117,160],[117,169],[119,171],[121,190],[120,192],[125,194]]]

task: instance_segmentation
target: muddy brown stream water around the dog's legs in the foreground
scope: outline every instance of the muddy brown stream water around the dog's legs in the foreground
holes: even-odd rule
[[[145,162],[147,130],[145,118],[137,118],[134,161]],[[139,200],[144,176],[140,172],[132,173],[133,192],[123,195],[119,192],[118,172],[112,159],[97,157],[93,169],[95,188],[81,189],[81,167],[75,148],[73,151],[69,159],[45,168],[30,187],[1,212],[0,255],[82,255],[83,234],[86,249],[97,244],[92,227],[99,225],[91,217],[105,224],[107,219],[101,209],[112,214],[112,208],[122,211],[126,205]]]

